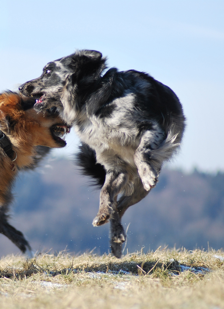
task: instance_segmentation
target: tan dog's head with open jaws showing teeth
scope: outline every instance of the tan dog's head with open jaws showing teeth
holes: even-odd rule
[[[37,113],[33,102],[23,96],[4,92],[0,95],[0,129],[16,147],[48,146],[60,148],[66,145],[65,135],[70,128],[54,110]],[[32,107],[32,108],[31,108]]]

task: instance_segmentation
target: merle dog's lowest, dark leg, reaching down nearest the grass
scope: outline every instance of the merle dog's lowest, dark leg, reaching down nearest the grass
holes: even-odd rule
[[[143,184],[139,179],[139,181],[135,183],[133,194],[130,196],[122,196],[118,201],[118,212],[116,213],[117,216],[110,218],[110,248],[111,252],[117,258],[121,257],[122,243],[124,243],[126,240],[125,231],[121,224],[121,217],[128,207],[141,201],[148,193],[149,191],[143,188]]]

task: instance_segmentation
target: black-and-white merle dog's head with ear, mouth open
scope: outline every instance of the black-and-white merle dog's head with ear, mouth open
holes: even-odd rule
[[[37,111],[56,106],[63,116],[64,108],[74,105],[77,95],[97,82],[106,68],[105,62],[106,58],[95,50],[77,51],[49,62],[40,77],[19,86],[19,91],[36,98],[34,108]]]

